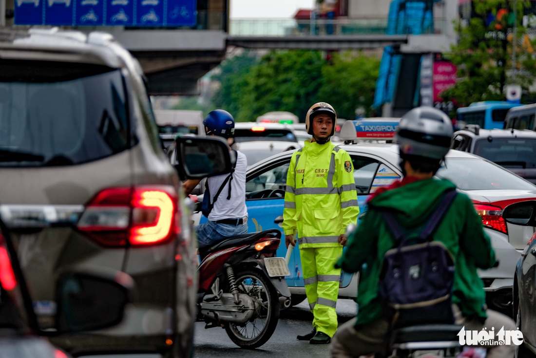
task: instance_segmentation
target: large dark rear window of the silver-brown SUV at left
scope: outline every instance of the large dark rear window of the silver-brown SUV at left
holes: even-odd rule
[[[75,165],[135,143],[121,71],[0,60],[0,166]]]

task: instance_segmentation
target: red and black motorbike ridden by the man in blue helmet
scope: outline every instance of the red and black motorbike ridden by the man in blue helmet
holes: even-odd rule
[[[276,257],[279,230],[230,237],[199,249],[198,320],[224,327],[239,347],[270,339],[279,311],[291,304],[285,259]]]

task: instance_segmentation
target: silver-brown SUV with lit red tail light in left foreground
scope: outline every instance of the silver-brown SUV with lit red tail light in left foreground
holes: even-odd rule
[[[111,35],[0,30],[0,215],[16,241],[42,329],[65,270],[123,271],[123,322],[60,335],[76,355],[190,356],[195,243],[162,151],[143,73]]]

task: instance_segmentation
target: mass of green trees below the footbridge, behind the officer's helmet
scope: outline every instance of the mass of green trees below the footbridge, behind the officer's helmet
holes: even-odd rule
[[[234,61],[240,65],[225,62],[214,77],[221,89],[213,102],[237,121],[289,111],[303,122],[309,107],[319,101],[330,103],[341,118],[353,118],[358,107],[368,114],[379,70],[378,57],[350,52],[334,53],[329,62],[322,51],[309,50],[271,51],[249,66],[242,59]]]

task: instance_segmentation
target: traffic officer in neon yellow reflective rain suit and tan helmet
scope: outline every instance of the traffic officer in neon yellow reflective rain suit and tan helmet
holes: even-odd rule
[[[325,102],[306,116],[312,139],[293,153],[287,173],[283,230],[285,242],[300,245],[303,282],[314,316],[311,332],[298,335],[310,344],[327,344],[337,330],[335,311],[346,228],[358,220],[358,196],[350,155],[331,143],[337,114]]]

